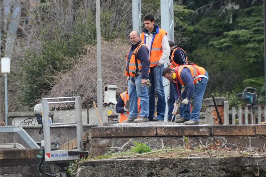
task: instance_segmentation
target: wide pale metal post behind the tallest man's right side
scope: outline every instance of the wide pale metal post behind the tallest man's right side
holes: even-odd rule
[[[167,32],[168,39],[174,41],[173,0],[161,0],[160,3],[161,3],[161,29]],[[166,62],[164,63],[165,68],[167,67],[167,63],[169,63],[169,59],[167,59]],[[166,103],[169,91],[169,86],[166,86],[167,84],[168,80],[163,78],[163,85],[165,86],[164,94],[165,94]],[[168,106],[166,105],[165,116],[164,116],[165,119],[167,119],[167,113],[168,113]]]

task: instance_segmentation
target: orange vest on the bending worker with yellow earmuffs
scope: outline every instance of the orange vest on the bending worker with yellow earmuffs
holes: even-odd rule
[[[175,67],[176,78],[179,80],[181,85],[185,85],[186,84],[181,79],[181,71],[184,69],[184,67],[190,69],[190,73],[192,75],[194,84],[196,84],[197,81],[199,81],[202,77],[206,78],[205,69],[200,67],[200,66],[198,66],[198,65],[181,65],[181,66],[177,66],[177,67]]]

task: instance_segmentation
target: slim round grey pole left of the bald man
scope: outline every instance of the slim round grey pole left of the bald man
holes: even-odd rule
[[[103,122],[103,80],[101,62],[101,27],[100,27],[100,0],[96,0],[96,32],[97,32],[97,104],[100,118]],[[98,121],[98,126],[101,126]]]

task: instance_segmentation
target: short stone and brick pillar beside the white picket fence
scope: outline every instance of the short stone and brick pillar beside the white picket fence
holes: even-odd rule
[[[215,97],[215,102],[217,104],[218,112],[220,117],[224,123],[224,109],[223,109],[223,101],[226,101],[225,97]],[[213,103],[213,98],[206,98],[203,100],[203,106],[206,107],[205,111],[205,124],[219,124],[219,118],[217,116],[215,106]]]

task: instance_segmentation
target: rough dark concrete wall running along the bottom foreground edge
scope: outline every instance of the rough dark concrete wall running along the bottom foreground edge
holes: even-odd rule
[[[77,177],[266,176],[265,157],[187,157],[80,161]]]

